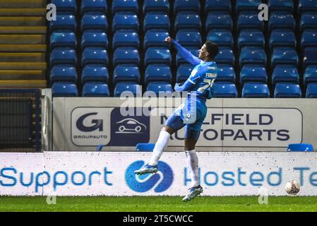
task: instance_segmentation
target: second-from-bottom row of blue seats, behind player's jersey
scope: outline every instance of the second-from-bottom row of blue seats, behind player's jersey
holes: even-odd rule
[[[177,68],[177,83],[182,83],[191,74],[193,66],[191,64],[181,64]],[[172,82],[172,71],[169,66],[165,64],[150,64],[145,69],[145,76],[143,84],[148,84],[151,81],[166,81]],[[277,66],[272,74],[271,83],[275,85],[280,82],[296,83],[299,84],[299,73],[296,68],[280,65]],[[114,69],[112,84],[116,84],[121,81],[133,81],[140,83],[141,76],[138,66],[119,64]],[[70,81],[77,83],[78,73],[74,66],[68,65],[56,65],[52,68],[50,73],[50,82],[56,81]],[[106,66],[100,64],[88,64],[83,68],[81,72],[80,81],[82,84],[86,82],[109,82],[109,71]],[[232,66],[224,66],[218,70],[217,81],[236,83],[236,73]],[[260,82],[268,83],[268,74],[264,67],[248,65],[241,69],[239,75],[239,83],[243,85],[247,82]],[[309,67],[304,73],[304,85],[309,83],[317,83],[317,69],[315,67]]]

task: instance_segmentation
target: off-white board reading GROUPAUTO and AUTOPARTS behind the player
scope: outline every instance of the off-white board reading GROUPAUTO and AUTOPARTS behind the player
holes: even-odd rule
[[[134,114],[124,115],[124,100],[119,98],[54,98],[52,150],[91,151],[104,145],[107,151],[133,151],[137,143],[155,143],[176,103],[151,105],[150,114],[145,114],[146,101],[135,100]],[[161,106],[162,99],[156,100]],[[286,151],[289,143],[317,146],[316,100],[213,99],[207,107],[197,150]],[[167,150],[183,149],[181,129]]]

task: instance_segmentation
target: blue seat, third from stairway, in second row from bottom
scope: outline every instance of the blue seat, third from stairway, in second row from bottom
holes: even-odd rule
[[[119,64],[114,69],[112,83],[116,84],[120,81],[140,83],[140,70],[135,65]]]

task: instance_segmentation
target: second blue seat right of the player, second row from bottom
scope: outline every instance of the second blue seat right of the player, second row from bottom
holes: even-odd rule
[[[240,72],[240,83],[246,82],[268,83],[268,74],[265,67],[246,65]]]

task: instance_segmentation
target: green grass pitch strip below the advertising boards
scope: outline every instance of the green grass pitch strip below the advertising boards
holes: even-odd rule
[[[183,203],[182,197],[56,197],[47,205],[46,197],[0,197],[0,211],[119,211],[119,212],[212,212],[212,211],[317,211],[317,196],[271,196],[267,205],[257,196],[199,196]]]

